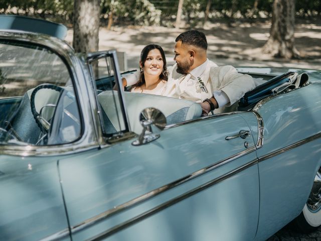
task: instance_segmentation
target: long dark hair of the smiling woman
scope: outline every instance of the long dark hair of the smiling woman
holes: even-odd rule
[[[144,66],[149,51],[153,50],[153,49],[158,49],[159,52],[161,52],[164,65],[163,65],[162,73],[161,73],[161,75],[159,75],[159,78],[167,81],[168,80],[168,72],[167,72],[167,67],[166,67],[166,58],[165,58],[164,50],[162,49],[161,46],[159,46],[157,44],[146,45],[140,53],[140,65]],[[137,86],[140,86],[144,83],[145,83],[144,67],[142,67],[142,68],[140,67],[140,74],[139,74],[138,82],[136,84],[134,84],[133,86],[137,87]]]

